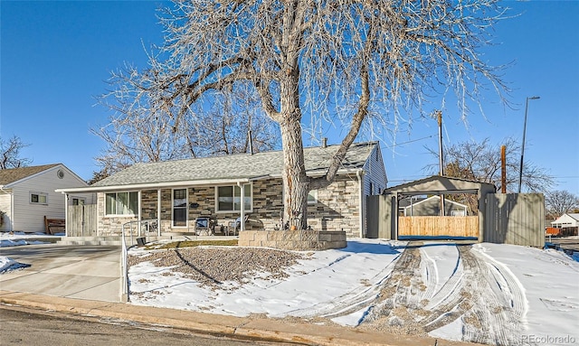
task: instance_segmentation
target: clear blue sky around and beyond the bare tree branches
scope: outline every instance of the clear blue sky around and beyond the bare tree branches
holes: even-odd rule
[[[162,42],[157,1],[6,1],[0,3],[0,135],[19,136],[33,164],[66,164],[83,179],[99,169],[93,158],[103,142],[89,132],[107,122],[95,96],[107,89],[109,71],[125,62],[146,67],[143,47]],[[557,190],[579,195],[579,1],[506,1],[515,18],[498,23],[486,50],[491,64],[513,64],[503,79],[513,89],[504,108],[496,95],[482,100],[486,117],[471,114],[468,126],[453,104],[441,107],[444,145],[465,140],[492,144],[522,139],[529,101],[525,160],[555,177]],[[395,153],[384,141],[384,164],[395,185],[429,175],[437,159],[434,120],[401,126]],[[422,139],[426,137],[425,139]],[[331,136],[330,143],[341,138]],[[406,143],[411,142],[411,143]],[[406,144],[403,144],[406,143]]]

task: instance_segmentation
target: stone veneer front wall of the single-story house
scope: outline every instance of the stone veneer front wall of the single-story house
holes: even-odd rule
[[[247,230],[273,230],[280,224],[282,204],[281,179],[261,180],[252,183],[253,209],[247,211]],[[196,186],[188,188],[188,204],[197,203],[188,209],[186,227],[172,227],[172,189],[161,190],[161,231],[193,232],[198,217],[216,218],[220,225],[227,225],[239,218],[239,212],[215,212],[215,187]],[[356,176],[338,176],[326,189],[318,191],[318,201],[308,205],[308,225],[318,231],[345,231],[348,237],[360,236],[360,189]],[[104,196],[98,194],[99,231],[101,235],[119,233],[122,224],[137,220],[137,217],[104,217]],[[141,192],[141,217],[143,220],[157,219],[157,190]]]

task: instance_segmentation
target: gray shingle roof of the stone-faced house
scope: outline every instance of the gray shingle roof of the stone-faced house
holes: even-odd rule
[[[377,142],[351,145],[342,168],[362,168],[375,145],[377,145]],[[328,145],[326,148],[305,148],[304,155],[307,173],[314,174],[327,168],[337,148],[338,145]],[[106,187],[157,182],[252,179],[279,175],[282,171],[282,164],[283,153],[281,151],[134,164],[100,182],[95,182],[91,186]]]

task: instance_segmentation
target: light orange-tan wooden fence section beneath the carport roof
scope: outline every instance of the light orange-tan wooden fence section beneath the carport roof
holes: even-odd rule
[[[398,236],[479,238],[479,217],[401,216]]]

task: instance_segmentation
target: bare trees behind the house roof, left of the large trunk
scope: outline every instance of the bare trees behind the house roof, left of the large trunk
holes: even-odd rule
[[[112,83],[118,81],[113,79]],[[95,158],[101,170],[93,174],[90,183],[136,163],[245,153],[250,130],[254,152],[271,150],[279,142],[279,133],[261,112],[255,94],[238,90],[235,102],[215,95],[209,111],[176,118],[167,112],[149,112],[147,105],[133,104],[126,91],[119,89],[100,98],[114,114],[107,126],[90,130],[106,144]]]

